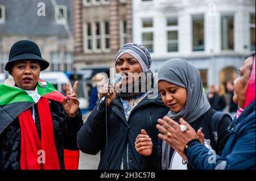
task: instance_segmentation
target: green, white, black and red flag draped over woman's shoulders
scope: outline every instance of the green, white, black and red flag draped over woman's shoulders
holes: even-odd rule
[[[64,95],[51,83],[39,80],[35,91],[0,84],[0,134],[20,113],[38,103],[40,97],[63,102]]]

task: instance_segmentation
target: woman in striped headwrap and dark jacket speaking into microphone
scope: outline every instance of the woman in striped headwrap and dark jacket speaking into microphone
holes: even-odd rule
[[[150,53],[142,45],[128,43],[119,50],[115,70],[125,76],[115,87],[122,85],[122,89],[113,91],[113,84],[100,88],[100,99],[108,92],[107,108],[105,102],[102,106],[97,105],[77,137],[77,145],[84,153],[97,154],[101,151],[98,169],[159,169],[160,165],[155,162],[158,160],[156,148],[150,157],[144,157],[134,148],[135,138],[140,133],[148,135],[145,139],[157,145],[158,130],[155,126],[158,118],[168,112],[160,94],[151,98],[151,92],[155,90],[151,87],[142,89],[143,81],[138,75],[152,75],[150,65]],[[145,163],[143,166],[141,161]]]

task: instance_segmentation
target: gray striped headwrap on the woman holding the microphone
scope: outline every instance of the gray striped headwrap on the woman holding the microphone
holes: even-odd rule
[[[147,72],[150,70],[151,57],[150,53],[144,46],[137,43],[127,43],[123,45],[119,49],[117,56],[115,57],[115,62],[117,62],[118,58],[125,53],[128,53],[137,59],[139,65],[141,65],[143,72]]]

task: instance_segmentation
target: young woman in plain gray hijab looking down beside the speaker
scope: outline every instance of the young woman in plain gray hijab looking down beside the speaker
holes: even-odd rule
[[[198,130],[199,137],[203,137],[204,133],[205,140],[201,141],[205,146],[211,146],[220,154],[229,138],[227,128],[232,119],[210,108],[195,66],[184,59],[174,58],[164,62],[158,76],[162,100],[170,108],[167,116],[176,122],[179,122],[180,117],[188,121]],[[152,151],[152,142],[143,141],[146,137],[146,134],[139,134],[135,141],[136,150],[144,156],[150,155]],[[159,162],[162,159],[162,169],[192,169],[167,142],[159,140],[158,148],[161,147],[162,150],[159,149],[158,152]]]

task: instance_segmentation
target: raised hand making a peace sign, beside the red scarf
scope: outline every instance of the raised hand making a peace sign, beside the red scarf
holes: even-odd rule
[[[63,99],[63,108],[65,113],[69,117],[75,117],[76,112],[79,109],[79,100],[77,99],[76,91],[77,91],[77,85],[78,81],[75,82],[73,86],[73,91],[72,94],[70,94],[70,89],[69,89],[69,82],[67,83],[67,91],[65,98]]]

